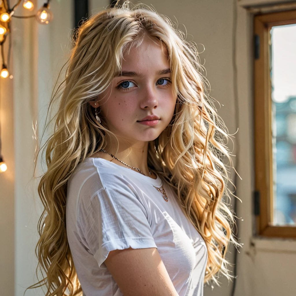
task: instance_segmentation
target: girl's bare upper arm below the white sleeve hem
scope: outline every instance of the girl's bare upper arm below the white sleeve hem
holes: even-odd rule
[[[104,263],[124,296],[178,296],[157,248],[113,250]]]

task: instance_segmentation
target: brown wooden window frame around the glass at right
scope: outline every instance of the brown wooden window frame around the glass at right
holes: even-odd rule
[[[254,141],[255,196],[260,197],[256,215],[257,234],[296,238],[296,225],[273,226],[272,114],[269,72],[270,29],[296,23],[296,10],[254,15]],[[256,50],[257,46],[257,50]],[[256,198],[255,198],[256,200]],[[256,210],[256,207],[255,207]]]

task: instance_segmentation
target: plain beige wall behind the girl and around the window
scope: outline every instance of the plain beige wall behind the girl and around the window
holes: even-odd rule
[[[54,20],[47,26],[35,20],[13,19],[13,79],[0,82],[2,154],[8,165],[0,175],[0,286],[1,295],[23,295],[36,282],[34,248],[38,240],[37,222],[41,205],[36,195],[33,175],[35,141],[32,121],[38,120],[39,131],[44,124],[46,104],[58,70],[70,49],[68,36],[73,28],[73,6],[70,0],[52,1]],[[136,1],[134,1],[136,2]],[[236,71],[233,65],[232,29],[233,1],[149,0],[142,2],[168,15],[176,16],[179,28],[187,29],[188,39],[205,46],[200,54],[210,82],[210,95],[224,106],[219,110],[230,133],[239,132],[234,151],[239,159],[237,195],[239,237],[244,243],[238,254],[239,296],[294,295],[296,244],[288,240],[252,237],[253,139],[252,139],[252,17],[242,7],[237,8]],[[242,0],[259,4],[263,0]],[[43,1],[38,1],[39,6]],[[91,0],[90,12],[99,12],[109,1]],[[20,15],[20,12],[18,12]],[[190,35],[191,34],[191,35]],[[202,45],[198,46],[202,51]],[[237,77],[238,97],[234,93]],[[238,99],[239,122],[235,121],[235,99]],[[38,137],[40,138],[40,134]],[[235,140],[235,139],[234,139]],[[232,146],[230,145],[232,149]],[[38,166],[36,175],[40,175]],[[232,178],[234,175],[232,174]],[[37,180],[38,181],[38,180]],[[234,200],[232,200],[233,204]],[[251,247],[254,242],[255,247]],[[228,254],[232,260],[232,254]],[[231,283],[221,276],[222,287],[205,288],[205,295],[230,295]],[[44,295],[41,289],[25,294]]]

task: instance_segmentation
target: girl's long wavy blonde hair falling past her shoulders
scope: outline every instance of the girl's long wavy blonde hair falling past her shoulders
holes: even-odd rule
[[[105,147],[106,134],[114,136],[103,120],[96,121],[89,101],[110,85],[121,69],[123,53],[140,44],[143,32],[167,47],[177,98],[170,124],[149,141],[148,166],[174,189],[182,211],[205,240],[204,282],[219,286],[220,273],[233,278],[225,256],[230,243],[241,244],[233,233],[234,213],[225,201],[235,196],[227,186],[232,160],[226,144],[231,135],[205,88],[197,45],[186,41],[168,17],[126,1],[93,15],[78,28],[65,64],[66,76],[58,88],[62,91],[53,92],[49,109],[59,99],[54,131],[38,151],[45,150],[47,170],[38,185],[44,211],[35,252],[46,276],[41,269],[43,279],[28,289],[46,285],[46,296],[82,295],[67,241],[67,181],[78,164]],[[225,158],[230,166],[224,164]]]

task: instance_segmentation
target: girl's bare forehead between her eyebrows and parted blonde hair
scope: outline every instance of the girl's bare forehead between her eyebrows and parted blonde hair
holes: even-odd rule
[[[169,68],[166,45],[145,34],[140,45],[135,44],[124,52],[121,66],[122,70]]]

